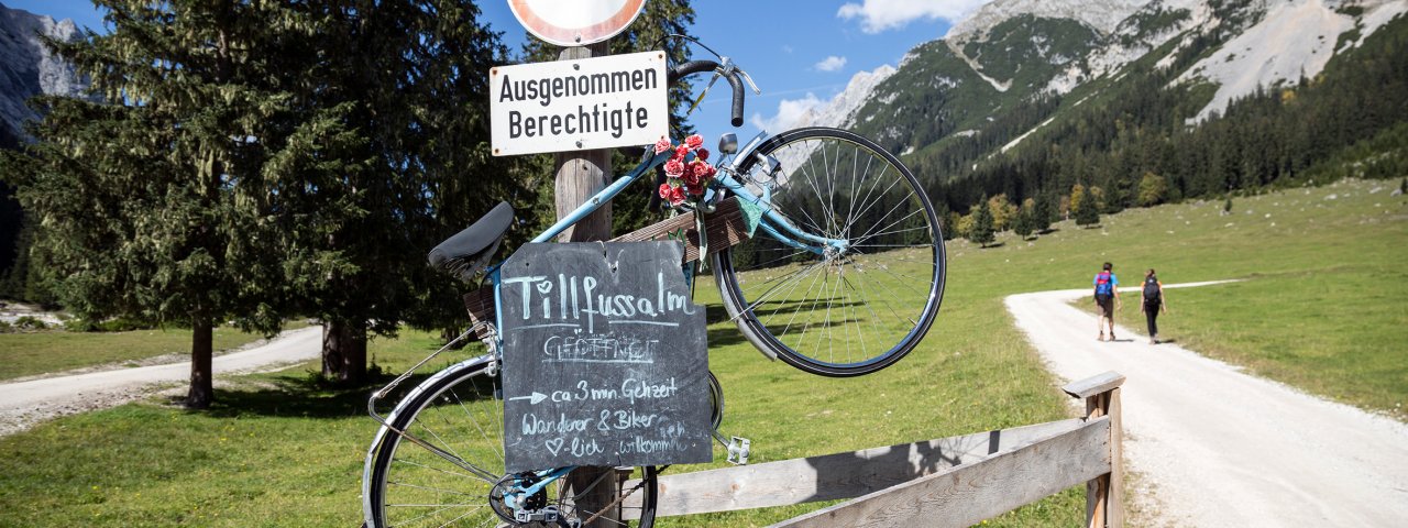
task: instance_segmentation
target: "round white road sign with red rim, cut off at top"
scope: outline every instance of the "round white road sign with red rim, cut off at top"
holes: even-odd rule
[[[559,46],[601,42],[641,15],[645,0],[508,0],[518,23]]]

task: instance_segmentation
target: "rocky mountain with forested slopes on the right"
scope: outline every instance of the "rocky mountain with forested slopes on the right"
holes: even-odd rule
[[[995,0],[848,89],[852,110],[810,118],[900,153],[941,208],[1084,183],[1118,210],[1140,204],[1146,176],[1169,186],[1152,200],[1219,194],[1408,138],[1405,13],[1405,0]],[[1408,161],[1404,146],[1390,158]]]

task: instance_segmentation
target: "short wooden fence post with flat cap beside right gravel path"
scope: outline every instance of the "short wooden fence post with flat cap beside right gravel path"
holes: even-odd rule
[[[1110,473],[1086,483],[1086,527],[1124,528],[1125,472],[1121,458],[1124,425],[1121,422],[1119,386],[1125,376],[1107,372],[1062,387],[1066,394],[1086,400],[1086,420],[1110,417]]]

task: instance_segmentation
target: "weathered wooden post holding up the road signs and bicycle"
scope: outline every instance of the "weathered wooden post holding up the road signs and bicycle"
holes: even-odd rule
[[[593,56],[610,55],[610,42],[603,41],[589,46],[563,48],[558,61],[587,59]],[[563,145],[566,152],[553,155],[556,173],[555,200],[558,203],[558,220],[580,207],[593,194],[605,189],[611,179],[611,151],[610,149],[580,149],[579,144]],[[593,242],[611,238],[611,203],[601,204],[596,213],[577,221],[560,235],[558,242]],[[566,487],[573,493],[583,493],[577,497],[577,511],[600,514],[586,528],[607,528],[621,525],[621,483],[624,479],[612,477],[611,467],[586,466],[567,474]],[[590,515],[583,515],[583,520]]]

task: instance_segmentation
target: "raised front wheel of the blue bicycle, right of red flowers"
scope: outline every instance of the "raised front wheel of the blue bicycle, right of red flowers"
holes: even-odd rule
[[[783,218],[714,256],[724,306],[755,346],[824,376],[872,373],[914,349],[939,313],[945,255],[904,163],[856,134],[800,128],[759,145],[739,177],[770,190]]]

